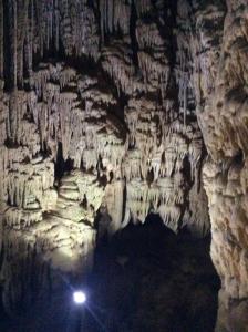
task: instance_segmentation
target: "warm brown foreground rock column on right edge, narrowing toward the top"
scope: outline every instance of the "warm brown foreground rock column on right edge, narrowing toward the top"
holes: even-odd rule
[[[199,114],[211,257],[223,281],[217,331],[248,331],[247,1],[227,1],[215,91]]]

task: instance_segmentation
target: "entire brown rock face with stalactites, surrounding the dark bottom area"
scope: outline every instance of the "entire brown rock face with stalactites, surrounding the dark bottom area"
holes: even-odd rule
[[[211,224],[217,331],[246,331],[247,50],[247,0],[0,0],[9,311],[33,256],[44,284],[46,270],[80,276],[100,210],[110,235],[153,211],[174,231]]]

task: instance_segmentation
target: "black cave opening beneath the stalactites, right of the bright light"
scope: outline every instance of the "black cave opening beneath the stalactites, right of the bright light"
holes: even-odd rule
[[[186,230],[176,236],[156,215],[100,240],[89,278],[92,312],[110,332],[214,331],[220,281],[209,245]],[[104,331],[87,311],[82,323]]]

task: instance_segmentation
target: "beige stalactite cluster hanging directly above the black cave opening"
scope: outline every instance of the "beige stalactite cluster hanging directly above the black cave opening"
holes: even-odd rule
[[[122,166],[126,179],[123,225],[130,219],[144,222],[153,211],[175,231],[183,222],[203,235],[209,230],[209,220],[197,200],[198,195],[206,203],[199,186],[202,136],[197,124],[184,125],[179,120],[168,124],[166,120],[166,110],[145,97],[130,100],[125,108],[128,149]],[[185,208],[187,196],[193,201]]]

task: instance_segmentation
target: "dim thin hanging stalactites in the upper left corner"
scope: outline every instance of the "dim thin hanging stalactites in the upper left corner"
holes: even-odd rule
[[[8,0],[3,4],[1,0],[0,80],[3,58],[10,56],[7,79],[11,87],[23,86],[24,77],[32,80],[34,54],[42,59],[50,50],[59,54],[63,49],[69,56],[99,58],[97,22],[86,1]],[[9,22],[7,30],[3,15]],[[8,44],[3,43],[3,34],[9,37]]]

